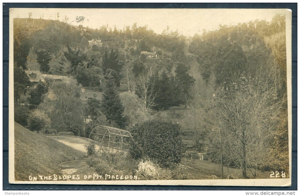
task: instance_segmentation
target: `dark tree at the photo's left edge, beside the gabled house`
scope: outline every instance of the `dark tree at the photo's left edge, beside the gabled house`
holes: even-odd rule
[[[27,92],[27,87],[32,86],[32,83],[29,81],[28,76],[22,68],[14,67],[13,68],[13,95],[15,106],[18,105],[18,100],[20,104],[21,93],[24,95]]]

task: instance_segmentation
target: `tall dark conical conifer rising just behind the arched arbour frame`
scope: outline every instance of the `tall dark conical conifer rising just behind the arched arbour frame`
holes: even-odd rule
[[[107,75],[105,90],[101,100],[101,110],[108,121],[115,121],[120,128],[126,126],[126,117],[123,115],[124,106],[115,90],[115,79],[110,74]]]

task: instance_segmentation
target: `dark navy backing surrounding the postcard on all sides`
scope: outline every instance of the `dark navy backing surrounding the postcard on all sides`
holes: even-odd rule
[[[292,10],[292,186],[30,185],[8,183],[9,8],[281,8]],[[3,3],[3,190],[297,190],[297,3]]]

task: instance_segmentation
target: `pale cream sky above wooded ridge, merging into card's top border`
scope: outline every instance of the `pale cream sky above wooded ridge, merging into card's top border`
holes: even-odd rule
[[[67,8],[13,8],[13,18],[32,18],[62,21],[69,17],[72,25],[82,24],[96,29],[108,24],[123,29],[125,26],[145,26],[161,33],[167,26],[171,31],[178,29],[179,34],[193,36],[202,34],[202,29],[215,30],[222,25],[236,25],[250,20],[271,21],[276,14],[284,14],[285,9],[67,9]],[[59,13],[59,18],[57,18]],[[83,22],[76,22],[76,16],[84,16]]]

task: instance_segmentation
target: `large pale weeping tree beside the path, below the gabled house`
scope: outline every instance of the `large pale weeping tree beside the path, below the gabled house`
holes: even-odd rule
[[[38,109],[49,116],[53,129],[71,131],[77,136],[83,135],[84,118],[80,94],[81,85],[77,85],[76,80],[68,83],[53,82]]]

